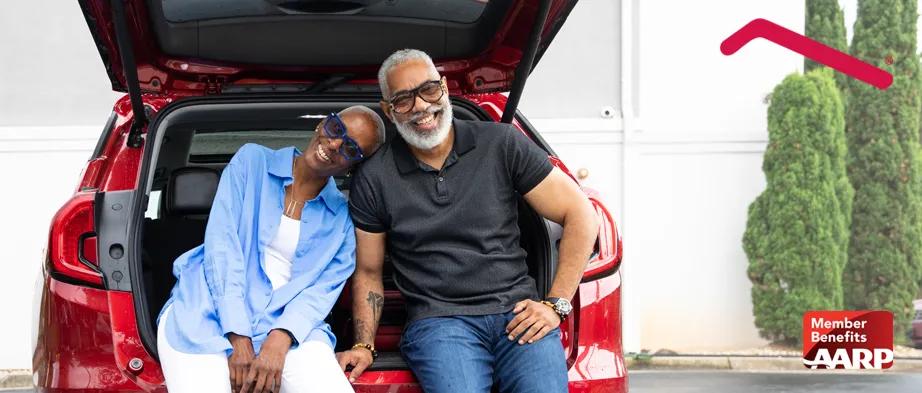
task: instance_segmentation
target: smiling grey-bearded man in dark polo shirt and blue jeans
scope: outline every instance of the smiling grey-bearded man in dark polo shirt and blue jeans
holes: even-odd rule
[[[598,233],[591,204],[514,127],[454,119],[425,53],[395,52],[378,75],[400,135],[353,181],[356,343],[340,366],[354,380],[373,362],[387,248],[409,315],[401,351],[423,390],[566,392],[558,326]],[[519,246],[517,195],[564,228],[544,299]]]

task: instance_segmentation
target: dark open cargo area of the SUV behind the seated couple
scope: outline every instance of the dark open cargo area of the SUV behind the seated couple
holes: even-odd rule
[[[139,190],[146,190],[146,203],[136,214],[144,216],[139,237],[138,260],[132,260],[139,285],[134,286],[138,328],[147,349],[156,354],[156,317],[175,284],[173,261],[183,252],[202,244],[211,201],[224,166],[240,146],[256,143],[274,149],[303,148],[323,116],[351,105],[367,105],[380,112],[369,96],[323,99],[279,98],[259,100],[247,97],[178,101],[156,115],[148,131],[142,158]],[[480,108],[455,99],[454,115],[459,119],[484,119]],[[302,116],[307,115],[307,118]],[[383,117],[383,115],[382,115]],[[396,129],[387,124],[388,140]],[[538,142],[541,143],[541,142]],[[344,194],[350,179],[336,178]],[[559,230],[538,216],[520,200],[521,245],[528,253],[529,274],[543,296],[550,285],[556,263]],[[549,236],[549,233],[551,234]],[[380,353],[371,370],[401,370],[406,365],[399,355],[399,342],[406,323],[406,310],[394,284],[391,261],[385,259],[385,303],[375,345]],[[337,351],[352,343],[350,285],[327,317],[337,335]]]

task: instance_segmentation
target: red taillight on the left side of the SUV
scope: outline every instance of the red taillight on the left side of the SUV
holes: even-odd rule
[[[51,221],[48,268],[63,278],[102,286],[96,257],[94,193],[78,193]]]

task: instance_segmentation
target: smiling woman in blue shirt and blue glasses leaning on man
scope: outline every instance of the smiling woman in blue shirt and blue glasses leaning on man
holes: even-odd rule
[[[177,281],[159,316],[171,391],[351,391],[324,323],[355,266],[346,198],[331,176],[377,150],[384,127],[374,112],[349,107],[318,128],[298,143],[303,154],[246,144],[224,168],[203,244],[173,262]],[[214,176],[187,168],[170,181],[180,188],[168,194],[174,210],[206,210],[203,186]]]

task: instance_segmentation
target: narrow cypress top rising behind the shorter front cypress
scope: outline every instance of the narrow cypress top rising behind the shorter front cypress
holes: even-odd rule
[[[848,52],[845,34],[845,17],[838,0],[806,0],[804,31],[807,37],[822,42],[842,52]],[[804,73],[822,68],[823,65],[804,58]],[[836,73],[836,85],[844,88],[845,74]]]

